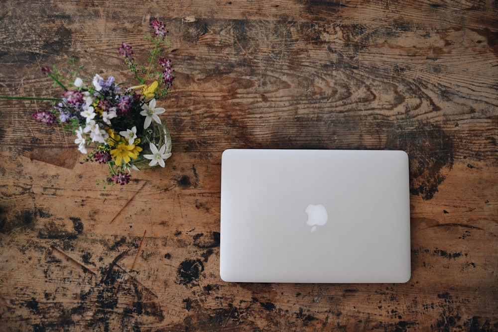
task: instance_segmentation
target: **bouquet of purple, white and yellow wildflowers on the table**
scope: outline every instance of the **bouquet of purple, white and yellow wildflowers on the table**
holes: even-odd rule
[[[97,74],[91,82],[77,77],[68,89],[57,69],[42,68],[64,93],[51,111],[38,111],[33,117],[47,124],[59,122],[73,132],[86,161],[109,165],[109,184],[128,183],[131,169],[164,167],[164,160],[171,156],[169,131],[158,116],[165,109],[157,107],[157,100],[168,93],[174,71],[171,61],[160,56],[168,45],[164,24],[156,19],[150,24],[154,32],[144,37],[154,45],[148,67],[137,66],[131,46],[123,42],[118,49],[139,83],[136,86],[117,84],[113,76],[105,79]]]

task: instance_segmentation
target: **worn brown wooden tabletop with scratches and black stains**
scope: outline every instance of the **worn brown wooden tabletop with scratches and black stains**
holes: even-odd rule
[[[153,18],[165,168],[104,189],[49,104],[0,100],[0,330],[498,331],[497,1],[2,0],[0,95],[58,97],[45,65],[129,79]],[[227,148],[405,150],[411,280],[221,281]]]

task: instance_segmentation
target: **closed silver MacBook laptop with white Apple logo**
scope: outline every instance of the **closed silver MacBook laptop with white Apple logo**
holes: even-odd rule
[[[408,156],[226,150],[220,233],[224,281],[407,282]]]

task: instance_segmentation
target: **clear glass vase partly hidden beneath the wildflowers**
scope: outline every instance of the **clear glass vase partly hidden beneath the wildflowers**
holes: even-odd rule
[[[166,144],[164,154],[171,152],[171,135],[169,134],[168,127],[162,121],[161,123],[152,121],[150,126],[145,129],[145,140],[144,144],[141,144],[143,146],[143,151],[140,152],[136,159],[130,161],[130,164],[139,170],[159,165],[157,163],[154,166],[149,166],[150,159],[143,157],[144,154],[152,154],[152,151],[149,149],[149,142],[157,146],[157,149],[160,149],[161,146]]]

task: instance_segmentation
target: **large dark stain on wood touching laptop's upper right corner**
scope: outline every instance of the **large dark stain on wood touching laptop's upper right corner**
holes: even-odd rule
[[[386,148],[403,150],[410,160],[410,193],[430,200],[453,167],[453,141],[436,124],[420,123],[413,129],[388,133]]]

